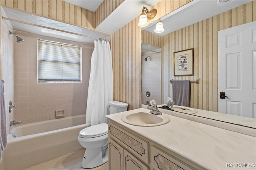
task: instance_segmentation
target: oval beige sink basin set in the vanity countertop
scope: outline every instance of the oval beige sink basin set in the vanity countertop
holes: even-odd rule
[[[167,115],[154,115],[146,112],[125,113],[122,115],[121,120],[130,125],[153,127],[164,125],[170,121]]]

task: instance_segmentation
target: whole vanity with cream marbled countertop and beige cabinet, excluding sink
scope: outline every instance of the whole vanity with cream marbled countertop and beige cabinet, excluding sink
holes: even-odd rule
[[[127,112],[138,111],[148,112]],[[230,163],[256,163],[253,136],[171,115],[164,125],[134,126],[120,119],[127,112],[107,116],[110,170],[224,170]]]

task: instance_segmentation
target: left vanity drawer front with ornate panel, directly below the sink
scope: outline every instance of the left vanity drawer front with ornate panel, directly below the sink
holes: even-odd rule
[[[148,164],[148,142],[134,136],[130,132],[113,125],[109,124],[108,136],[122,144],[129,152],[137,156],[146,164]]]

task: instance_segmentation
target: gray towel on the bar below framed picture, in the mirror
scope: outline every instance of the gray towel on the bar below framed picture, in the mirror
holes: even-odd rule
[[[190,107],[190,81],[172,81],[172,99],[175,105]]]

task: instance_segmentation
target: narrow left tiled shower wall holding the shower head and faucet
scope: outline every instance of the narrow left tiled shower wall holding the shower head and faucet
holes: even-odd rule
[[[2,14],[4,16],[4,14]],[[9,21],[1,21],[1,57],[2,57],[2,79],[4,83],[4,99],[6,109],[6,132],[10,131],[10,121],[14,119],[14,110],[9,113],[9,101],[14,101],[14,56],[13,56],[13,43],[14,35],[9,35],[9,30],[13,28]]]

